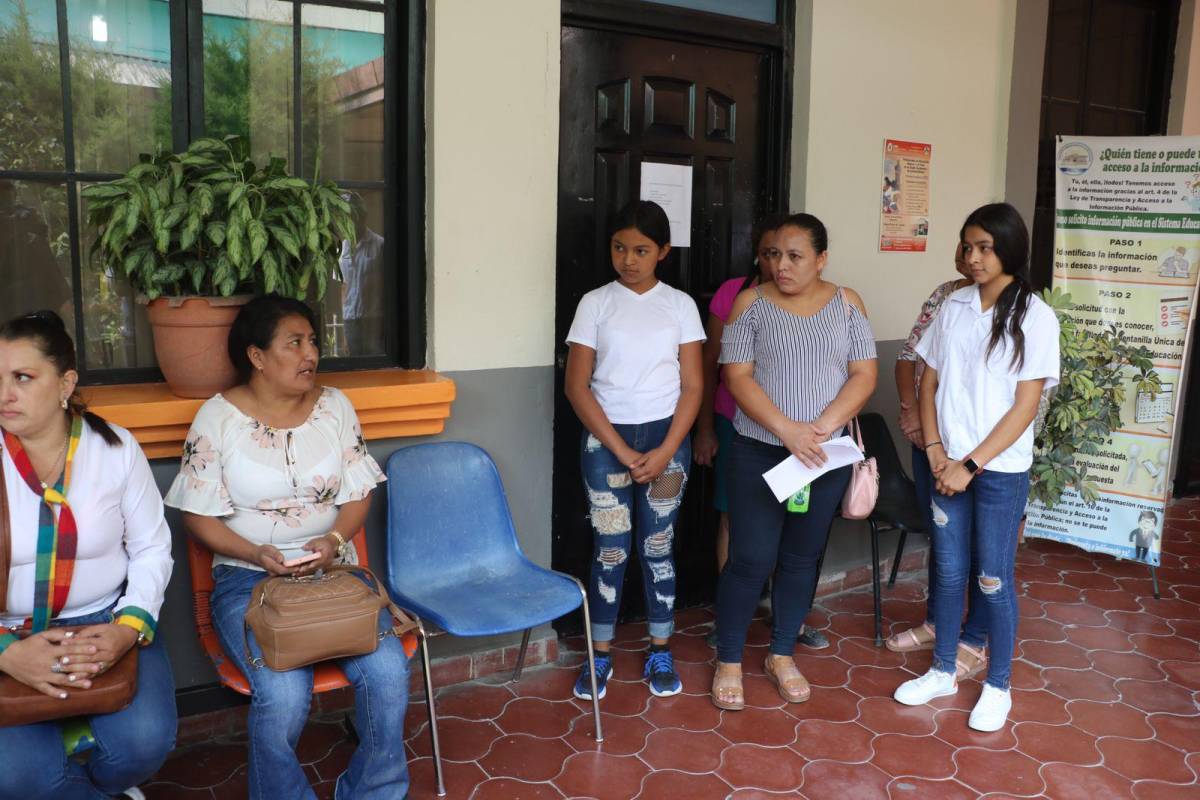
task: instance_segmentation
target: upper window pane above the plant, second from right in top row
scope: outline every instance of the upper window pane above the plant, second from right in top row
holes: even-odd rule
[[[292,160],[292,4],[204,0],[204,130]]]

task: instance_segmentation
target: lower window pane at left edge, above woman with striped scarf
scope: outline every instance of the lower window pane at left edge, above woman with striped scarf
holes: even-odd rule
[[[0,181],[0,319],[50,308],[74,331],[66,186]]]

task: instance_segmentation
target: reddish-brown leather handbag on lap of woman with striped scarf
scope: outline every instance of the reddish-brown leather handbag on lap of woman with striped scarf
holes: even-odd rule
[[[0,455],[0,614],[8,607],[8,570],[12,566],[12,523],[8,519],[8,489]],[[79,631],[84,625],[64,625],[62,631]],[[18,636],[25,633],[17,631]],[[91,716],[120,711],[138,691],[138,649],[132,646],[102,675],[91,679],[91,688],[70,688],[67,698],[42,694],[16,678],[0,673],[0,728],[47,722],[62,717]]]

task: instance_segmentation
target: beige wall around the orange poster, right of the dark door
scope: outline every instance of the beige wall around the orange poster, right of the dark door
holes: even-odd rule
[[[806,139],[793,130],[805,140],[792,199],[829,228],[828,279],[862,293],[877,339],[904,338],[929,291],[954,275],[964,217],[1003,199],[1016,4],[798,5],[798,25],[810,17],[812,30],[804,47],[797,37],[796,80],[810,104]],[[884,138],[934,145],[926,253],[878,252]]]

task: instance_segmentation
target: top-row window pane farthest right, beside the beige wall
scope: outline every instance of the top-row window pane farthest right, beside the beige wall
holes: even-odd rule
[[[301,158],[312,176],[383,180],[383,13],[304,6]]]

